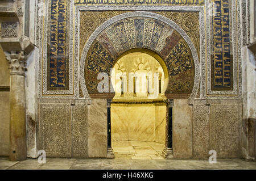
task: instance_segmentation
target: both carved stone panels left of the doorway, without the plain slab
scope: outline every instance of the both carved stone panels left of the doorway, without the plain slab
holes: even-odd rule
[[[88,102],[39,99],[40,149],[47,157],[88,157]]]

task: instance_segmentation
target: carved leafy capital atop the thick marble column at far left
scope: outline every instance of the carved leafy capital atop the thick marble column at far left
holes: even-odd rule
[[[25,76],[25,71],[27,71],[27,57],[25,56],[24,51],[5,51],[5,56],[7,61],[9,61],[10,75]]]

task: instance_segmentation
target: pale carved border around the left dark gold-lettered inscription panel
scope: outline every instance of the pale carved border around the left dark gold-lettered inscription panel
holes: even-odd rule
[[[49,20],[49,3],[51,0],[40,0],[43,7],[41,11],[44,12],[44,15],[39,16],[39,7],[36,11],[37,14],[37,37],[36,44],[39,47],[39,63],[38,63],[38,98],[49,98],[49,99],[68,99],[75,98],[74,96],[74,87],[77,86],[77,77],[75,76],[75,68],[73,65],[73,8],[74,2],[71,0],[69,2],[69,89],[68,90],[47,90],[47,39],[48,39],[48,20]],[[39,4],[39,3],[38,3]],[[40,25],[39,25],[40,24]]]

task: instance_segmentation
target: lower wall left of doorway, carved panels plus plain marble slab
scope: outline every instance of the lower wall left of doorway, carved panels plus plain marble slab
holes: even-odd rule
[[[106,99],[40,99],[39,142],[47,157],[105,158]]]

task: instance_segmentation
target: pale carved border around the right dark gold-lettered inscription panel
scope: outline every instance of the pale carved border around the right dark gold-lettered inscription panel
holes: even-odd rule
[[[210,14],[209,14],[209,3],[210,0],[205,1],[205,16],[206,16],[206,27],[207,27],[207,98],[210,99],[237,99],[241,98],[242,92],[242,68],[241,68],[241,20],[240,20],[240,0],[229,0],[232,9],[232,52],[233,52],[233,90],[231,91],[213,91],[211,81],[211,60],[210,60]],[[240,41],[239,38],[240,37]]]

